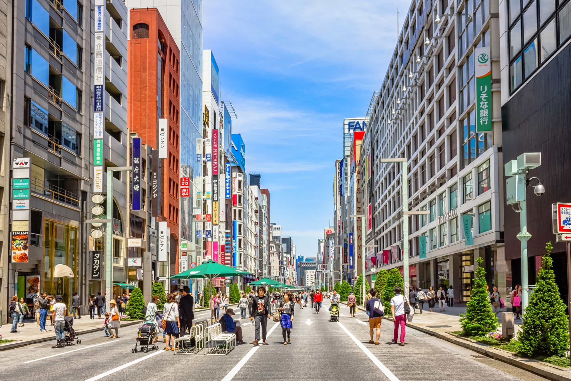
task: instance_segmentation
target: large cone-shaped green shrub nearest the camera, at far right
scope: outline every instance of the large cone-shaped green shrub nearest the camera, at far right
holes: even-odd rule
[[[537,288],[529,296],[522,331],[518,333],[521,352],[528,356],[563,356],[569,350],[568,317],[555,283],[552,249],[548,242],[537,274]]]

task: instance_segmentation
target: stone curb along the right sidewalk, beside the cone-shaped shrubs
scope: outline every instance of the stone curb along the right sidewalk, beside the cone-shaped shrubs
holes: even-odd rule
[[[357,307],[357,309],[365,311],[365,309],[361,307]],[[384,316],[383,319],[394,321],[392,316]],[[541,362],[540,360],[519,358],[518,356],[515,356],[512,352],[504,351],[501,350],[500,348],[490,347],[486,344],[481,344],[474,340],[467,340],[464,338],[460,339],[458,338],[457,335],[454,334],[443,335],[440,332],[428,330],[427,328],[421,327],[414,323],[409,323],[408,321],[407,321],[407,327],[411,327],[417,331],[424,332],[425,334],[435,336],[436,338],[445,340],[452,344],[456,344],[457,346],[475,351],[478,354],[485,355],[489,358],[524,369],[539,376],[545,377],[546,379],[549,380],[571,381],[571,368],[557,367],[554,366],[553,364],[547,364]]]

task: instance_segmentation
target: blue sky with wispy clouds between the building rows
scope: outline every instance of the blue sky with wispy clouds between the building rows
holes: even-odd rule
[[[238,114],[232,132],[297,255],[315,257],[333,224],[343,118],[367,113],[395,48],[397,6],[409,4],[204,1],[203,46],[218,62],[220,98]]]

